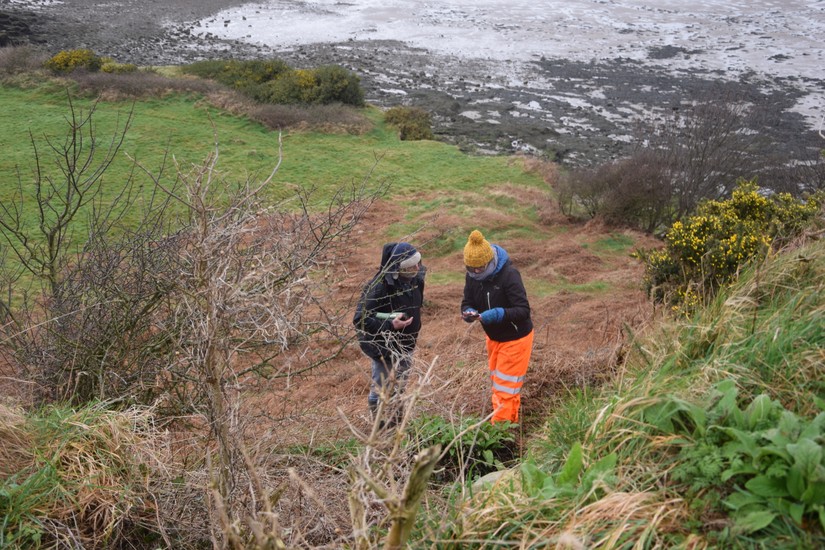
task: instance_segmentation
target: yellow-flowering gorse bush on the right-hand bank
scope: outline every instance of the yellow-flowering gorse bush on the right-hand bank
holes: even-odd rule
[[[689,313],[740,269],[798,236],[822,207],[822,196],[800,201],[787,193],[760,194],[743,182],[728,200],[706,201],[695,215],[675,222],[661,250],[639,250],[648,295]]]

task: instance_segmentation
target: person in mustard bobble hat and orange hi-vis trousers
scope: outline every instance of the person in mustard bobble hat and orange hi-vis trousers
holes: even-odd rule
[[[530,302],[521,274],[507,251],[490,244],[481,231],[464,246],[464,297],[461,317],[481,323],[492,382],[492,423],[518,422],[521,388],[533,350]]]

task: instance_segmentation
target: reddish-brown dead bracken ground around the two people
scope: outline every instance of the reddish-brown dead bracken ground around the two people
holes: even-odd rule
[[[495,230],[480,229],[508,251],[528,288],[536,331],[522,400],[523,429],[529,431],[568,388],[610,376],[627,336],[625,327],[647,323],[652,306],[641,290],[642,269],[627,252],[632,246],[657,243],[631,231],[571,223],[535,190],[511,191],[520,194],[520,200],[545,201],[533,235],[499,240]],[[346,264],[336,270],[342,277],[338,299],[348,302],[350,311],[361,285],[377,268],[382,244],[390,240],[386,228],[399,218],[397,205],[377,204],[355,235]],[[506,227],[508,219],[502,215],[495,223]],[[476,324],[460,321],[463,276],[449,276],[463,274],[461,251],[432,257],[426,244],[418,244],[458,225],[464,223],[445,216],[425,224],[426,230],[410,239],[422,252],[429,281],[414,369],[420,375],[435,365],[419,412],[447,419],[483,416],[491,408],[484,334]],[[624,243],[621,250],[604,248],[614,241]],[[456,282],[439,282],[445,278]],[[413,385],[416,380],[414,375]],[[280,437],[293,443],[340,441],[351,437],[341,413],[358,429],[369,427],[368,385],[369,361],[353,342],[331,365],[288,382],[281,379],[260,392],[252,410],[266,411],[268,419],[278,417]]]

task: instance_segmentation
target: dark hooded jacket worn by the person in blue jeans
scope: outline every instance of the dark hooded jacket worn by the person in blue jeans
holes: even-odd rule
[[[387,243],[381,253],[378,273],[364,286],[352,323],[358,333],[358,343],[367,356],[392,360],[399,353],[415,349],[421,330],[421,306],[424,303],[424,275],[421,266],[411,280],[393,278],[397,262],[391,261],[397,243]],[[393,265],[395,264],[395,265]],[[404,313],[413,322],[402,330],[392,328],[392,320],[379,319],[376,313]]]

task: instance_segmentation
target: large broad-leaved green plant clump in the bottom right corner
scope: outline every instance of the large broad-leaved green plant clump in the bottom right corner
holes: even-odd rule
[[[730,380],[710,400],[707,412],[677,398],[642,411],[646,422],[682,436],[673,479],[694,497],[722,495],[709,504],[730,511],[734,533],[786,525],[825,530],[825,413],[800,418],[767,394],[740,408]]]

